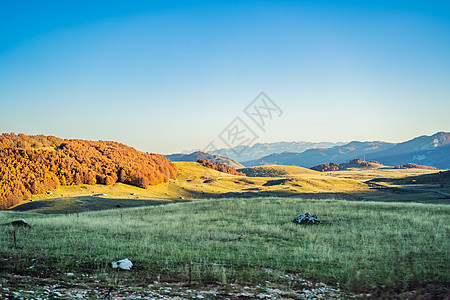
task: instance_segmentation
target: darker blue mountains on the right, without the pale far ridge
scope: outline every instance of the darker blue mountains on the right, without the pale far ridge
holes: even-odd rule
[[[257,160],[241,162],[246,167],[277,164],[313,167],[323,163],[343,163],[354,158],[376,160],[384,165],[417,163],[439,169],[450,169],[450,133],[438,132],[403,143],[353,141],[331,148],[309,149],[301,153],[278,153]]]

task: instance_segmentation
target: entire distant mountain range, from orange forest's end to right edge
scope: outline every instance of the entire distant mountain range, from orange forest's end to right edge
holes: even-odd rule
[[[295,149],[297,150],[292,151]],[[279,151],[279,153],[273,153],[273,151]],[[450,169],[450,133],[438,132],[431,136],[424,135],[402,143],[382,141],[353,141],[347,144],[330,142],[258,143],[247,148],[238,146],[231,149],[219,149],[212,153],[221,153],[221,155],[197,151],[191,154],[166,155],[166,157],[172,161],[208,159],[236,169],[267,164],[311,168],[330,162],[341,164],[355,158],[375,160],[387,166],[415,163],[439,169]],[[259,157],[264,153],[270,154]],[[243,160],[243,158],[249,157],[259,158]],[[239,159],[239,162],[233,158]]]

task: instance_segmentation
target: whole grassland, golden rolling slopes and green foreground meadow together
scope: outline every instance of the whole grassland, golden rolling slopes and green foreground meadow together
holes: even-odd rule
[[[0,274],[36,280],[22,289],[38,278],[70,285],[93,276],[105,288],[156,280],[292,291],[303,287],[289,278],[301,274],[378,298],[448,293],[448,173],[260,166],[244,177],[176,164],[177,179],[148,189],[63,186],[0,212],[0,223],[32,226],[0,226]],[[324,223],[291,222],[306,211]],[[122,258],[131,272],[108,267]],[[77,275],[66,282],[67,272]]]

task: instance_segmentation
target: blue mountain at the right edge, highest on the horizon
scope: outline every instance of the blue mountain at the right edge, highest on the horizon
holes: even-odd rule
[[[450,169],[450,133],[438,132],[432,136],[420,136],[396,146],[366,155],[366,159],[378,160],[385,165],[416,163],[439,169]]]

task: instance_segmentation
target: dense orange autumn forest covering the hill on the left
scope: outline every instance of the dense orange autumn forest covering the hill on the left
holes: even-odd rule
[[[121,182],[147,188],[176,178],[177,172],[164,156],[117,142],[0,135],[0,209],[61,185]]]

